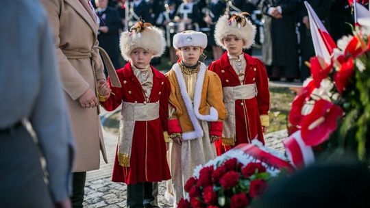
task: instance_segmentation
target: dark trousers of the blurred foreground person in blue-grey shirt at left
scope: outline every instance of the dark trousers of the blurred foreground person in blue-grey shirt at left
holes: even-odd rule
[[[39,152],[25,127],[0,129],[0,207],[53,207]]]

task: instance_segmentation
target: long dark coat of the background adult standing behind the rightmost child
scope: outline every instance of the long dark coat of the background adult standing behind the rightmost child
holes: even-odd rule
[[[271,7],[280,5],[283,18],[273,18],[267,13]],[[264,42],[262,55],[267,66],[298,66],[295,15],[297,0],[262,0],[260,10],[264,18]]]

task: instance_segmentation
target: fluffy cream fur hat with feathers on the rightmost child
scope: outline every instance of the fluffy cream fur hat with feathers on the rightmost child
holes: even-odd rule
[[[219,21],[217,21],[214,29],[214,40],[216,40],[216,43],[220,47],[223,47],[223,49],[225,49],[225,46],[222,44],[222,39],[229,35],[234,35],[243,39],[245,43],[243,48],[245,49],[249,49],[251,45],[254,44],[256,26],[245,18],[243,13],[240,15],[233,14],[230,20],[227,15],[223,15],[219,18]]]

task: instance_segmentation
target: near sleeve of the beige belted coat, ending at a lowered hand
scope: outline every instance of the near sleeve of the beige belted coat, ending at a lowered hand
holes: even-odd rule
[[[71,96],[73,100],[82,96],[84,92],[90,88],[89,84],[85,81],[84,77],[77,73],[77,70],[72,66],[71,62],[67,59],[66,55],[60,49],[60,12],[62,11],[61,0],[41,0],[41,3],[45,6],[49,17],[49,23],[53,31],[53,38],[56,45],[56,53],[58,56],[58,64],[60,69],[60,75],[62,79],[62,88],[64,91]],[[77,15],[77,14],[76,14]],[[101,66],[103,67],[103,66]]]

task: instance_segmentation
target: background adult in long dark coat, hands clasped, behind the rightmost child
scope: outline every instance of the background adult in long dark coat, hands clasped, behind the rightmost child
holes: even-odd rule
[[[295,33],[296,0],[262,0],[259,8],[264,18],[262,56],[271,81],[299,77],[297,34]]]

